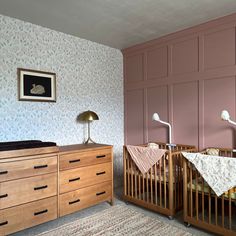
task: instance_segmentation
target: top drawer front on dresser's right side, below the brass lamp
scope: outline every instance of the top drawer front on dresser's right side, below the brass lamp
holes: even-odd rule
[[[111,149],[106,148],[96,151],[75,152],[60,155],[60,170],[100,164],[111,161]]]

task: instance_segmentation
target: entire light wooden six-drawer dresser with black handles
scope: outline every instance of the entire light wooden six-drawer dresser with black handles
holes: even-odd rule
[[[78,144],[0,152],[0,235],[113,203],[113,147]]]

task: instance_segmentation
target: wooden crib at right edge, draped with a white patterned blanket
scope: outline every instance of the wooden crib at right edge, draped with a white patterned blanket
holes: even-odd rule
[[[218,148],[219,156],[235,157],[232,149]],[[201,153],[206,154],[206,150]],[[217,197],[200,173],[185,158],[184,221],[222,235],[236,235],[236,188]]]

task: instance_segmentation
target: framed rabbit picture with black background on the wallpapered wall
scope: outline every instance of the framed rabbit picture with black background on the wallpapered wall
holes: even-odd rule
[[[18,68],[20,101],[56,102],[56,74]]]

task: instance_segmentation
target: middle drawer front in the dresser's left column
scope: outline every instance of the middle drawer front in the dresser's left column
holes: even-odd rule
[[[57,194],[57,173],[0,183],[0,209]]]

